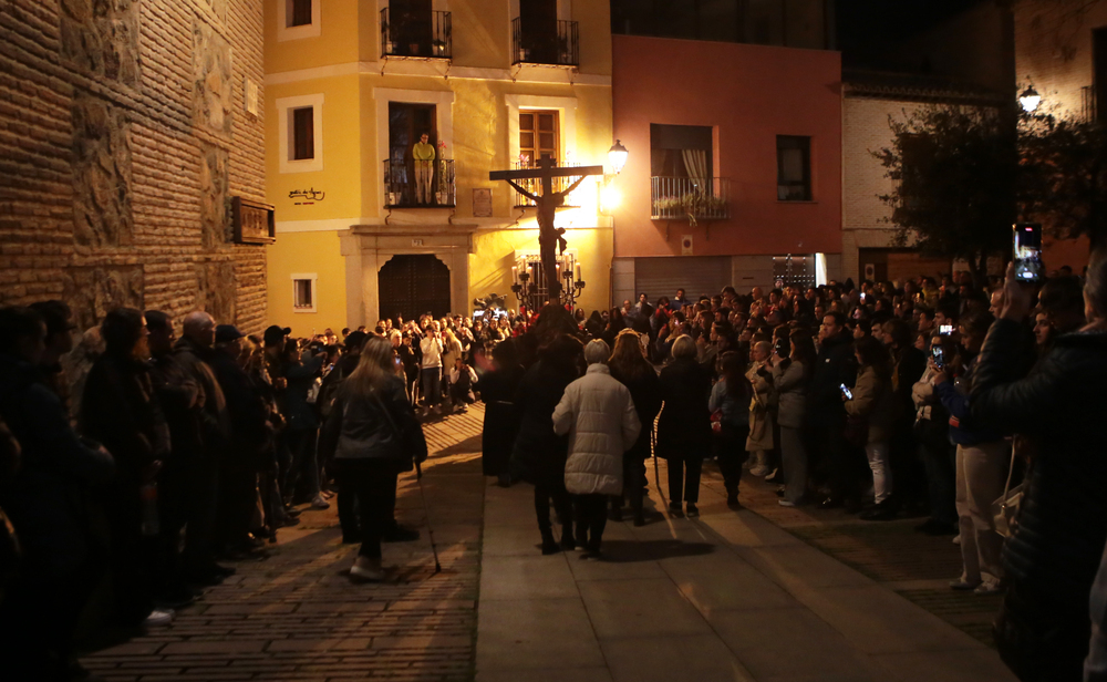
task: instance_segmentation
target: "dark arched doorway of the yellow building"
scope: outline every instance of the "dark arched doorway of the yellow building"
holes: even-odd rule
[[[449,268],[433,255],[393,256],[376,275],[380,317],[415,320],[449,312]]]

